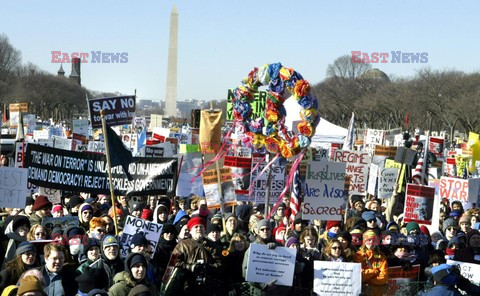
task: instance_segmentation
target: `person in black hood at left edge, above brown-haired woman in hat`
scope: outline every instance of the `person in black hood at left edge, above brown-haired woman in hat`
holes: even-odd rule
[[[5,236],[9,238],[7,251],[3,260],[2,267],[5,263],[15,259],[17,246],[27,240],[27,234],[30,231],[30,221],[27,217],[18,215],[7,224],[5,228]]]

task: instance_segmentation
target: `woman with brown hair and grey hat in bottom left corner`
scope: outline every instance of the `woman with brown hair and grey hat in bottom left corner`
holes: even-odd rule
[[[37,250],[31,242],[24,241],[19,244],[15,255],[15,259],[7,262],[5,269],[0,272],[0,290],[15,285],[25,271],[39,266]]]

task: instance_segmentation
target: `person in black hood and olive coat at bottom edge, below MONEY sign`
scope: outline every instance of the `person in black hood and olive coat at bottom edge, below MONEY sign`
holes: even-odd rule
[[[114,284],[108,290],[110,296],[128,296],[137,285],[149,287],[152,295],[157,295],[155,286],[147,279],[147,258],[142,253],[130,253],[125,259],[124,271],[117,273]]]

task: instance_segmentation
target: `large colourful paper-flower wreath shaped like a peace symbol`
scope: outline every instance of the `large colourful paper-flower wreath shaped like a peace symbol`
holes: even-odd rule
[[[252,119],[251,103],[261,86],[267,86],[266,122],[261,117]],[[298,134],[285,127],[287,112],[283,103],[286,90],[301,106]],[[239,125],[237,130],[244,133],[244,144],[255,149],[265,148],[270,153],[281,153],[287,159],[307,148],[320,121],[317,98],[310,90],[310,84],[302,75],[280,63],[254,68],[234,90],[232,101],[233,117]]]

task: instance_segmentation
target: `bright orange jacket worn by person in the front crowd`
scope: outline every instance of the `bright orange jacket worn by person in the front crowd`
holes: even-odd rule
[[[362,264],[362,283],[380,286],[388,282],[388,264],[385,255],[361,249],[353,256],[353,261]]]

